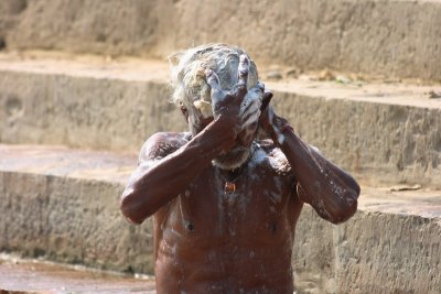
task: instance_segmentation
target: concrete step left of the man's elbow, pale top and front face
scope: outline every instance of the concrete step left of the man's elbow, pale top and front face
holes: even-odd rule
[[[0,250],[152,273],[151,224],[128,224],[119,197],[136,156],[0,149]]]

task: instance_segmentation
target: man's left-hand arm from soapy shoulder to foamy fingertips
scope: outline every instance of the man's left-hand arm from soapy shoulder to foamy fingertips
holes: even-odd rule
[[[249,61],[240,58],[238,81],[232,91],[220,88],[218,77],[207,70],[214,120],[189,142],[164,133],[153,135],[143,148],[140,165],[132,174],[120,208],[127,219],[141,224],[159,208],[182,193],[220,152],[228,151],[236,141],[254,104],[240,110],[247,94]],[[178,140],[178,141],[176,141]],[[173,150],[173,145],[182,145]]]

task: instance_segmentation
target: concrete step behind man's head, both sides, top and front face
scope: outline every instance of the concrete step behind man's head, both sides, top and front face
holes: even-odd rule
[[[0,55],[0,142],[138,152],[157,131],[183,131],[168,66],[60,53]],[[365,183],[441,187],[441,86],[267,83],[277,112]]]

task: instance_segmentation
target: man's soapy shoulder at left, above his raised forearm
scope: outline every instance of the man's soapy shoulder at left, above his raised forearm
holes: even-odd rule
[[[173,153],[191,139],[187,132],[158,132],[142,144],[139,161],[159,160]]]

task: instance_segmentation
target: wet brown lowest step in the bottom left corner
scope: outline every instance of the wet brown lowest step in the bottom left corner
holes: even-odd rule
[[[2,294],[154,294],[154,279],[0,254]]]

